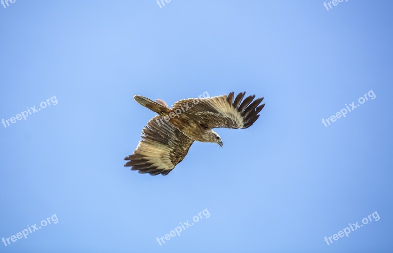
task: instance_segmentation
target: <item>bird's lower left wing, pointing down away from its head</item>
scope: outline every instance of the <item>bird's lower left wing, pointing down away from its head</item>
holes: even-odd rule
[[[124,166],[150,175],[167,175],[184,159],[194,142],[161,116],[147,123],[141,137],[134,154],[124,158],[130,160]]]

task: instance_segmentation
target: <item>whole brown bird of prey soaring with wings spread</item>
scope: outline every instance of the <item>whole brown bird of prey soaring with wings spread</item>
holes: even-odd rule
[[[259,118],[265,104],[246,92],[229,95],[188,98],[179,100],[172,108],[161,99],[152,101],[135,95],[134,100],[156,112],[142,130],[134,153],[124,158],[131,170],[150,175],[167,175],[183,161],[194,141],[211,142],[223,146],[221,137],[213,128],[248,128]]]

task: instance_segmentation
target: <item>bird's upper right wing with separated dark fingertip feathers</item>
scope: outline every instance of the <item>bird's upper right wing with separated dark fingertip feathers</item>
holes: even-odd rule
[[[231,92],[228,96],[180,100],[173,105],[172,110],[181,110],[181,113],[185,113],[206,128],[248,128],[258,119],[258,113],[265,106],[258,106],[263,97],[253,101],[255,95],[243,100],[245,92],[239,93],[235,99],[233,94]]]

